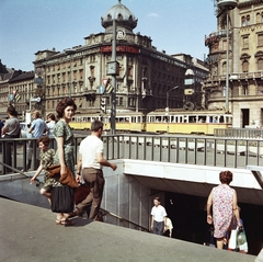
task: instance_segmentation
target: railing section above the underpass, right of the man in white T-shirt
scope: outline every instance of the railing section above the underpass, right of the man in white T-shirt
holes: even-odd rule
[[[138,159],[245,169],[263,166],[263,140],[210,136],[103,136],[107,159]]]

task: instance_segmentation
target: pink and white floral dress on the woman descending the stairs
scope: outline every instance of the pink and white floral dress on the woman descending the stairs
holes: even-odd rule
[[[235,190],[227,184],[220,184],[211,191],[215,238],[225,238],[231,227],[233,221],[233,194]]]

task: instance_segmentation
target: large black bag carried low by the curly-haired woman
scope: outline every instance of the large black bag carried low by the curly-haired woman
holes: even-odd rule
[[[52,191],[52,212],[71,213],[75,208],[75,190],[68,185],[54,186]]]

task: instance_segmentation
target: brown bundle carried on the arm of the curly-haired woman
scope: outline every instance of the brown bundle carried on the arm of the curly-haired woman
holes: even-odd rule
[[[60,176],[60,164],[53,164],[46,168],[46,171],[48,172],[49,176]],[[62,173],[62,175],[59,178],[59,182],[64,185],[68,185],[71,187],[78,187],[78,183],[75,179],[75,175],[69,170],[68,167],[66,167],[66,173]]]

